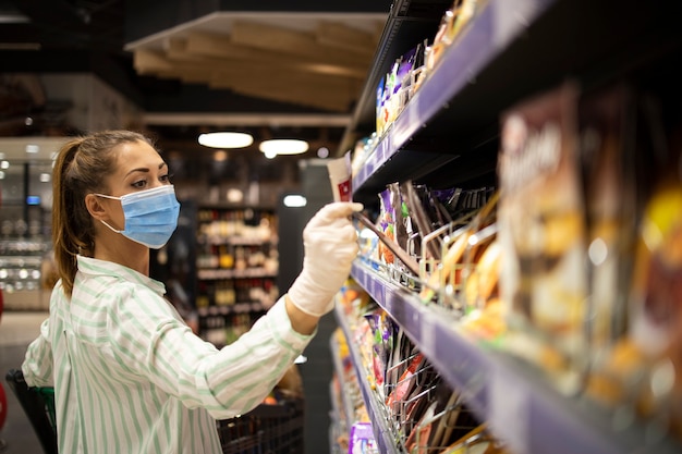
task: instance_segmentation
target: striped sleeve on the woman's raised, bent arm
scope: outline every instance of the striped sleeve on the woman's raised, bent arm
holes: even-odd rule
[[[139,294],[123,297],[111,311],[112,354],[131,373],[218,419],[258,405],[315,335],[293,330],[282,297],[248,332],[217,349],[193,334],[169,303],[147,293],[144,303]]]

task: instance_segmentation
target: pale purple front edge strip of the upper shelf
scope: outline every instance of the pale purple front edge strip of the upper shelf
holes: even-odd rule
[[[522,11],[517,11],[514,9],[519,4],[490,0],[458,38],[456,45],[444,52],[441,61],[353,177],[355,195],[376,195],[387,181],[401,181],[407,174],[416,180],[454,161],[458,150],[443,150],[440,147],[438,152],[429,152],[419,149],[424,145],[413,139],[438,112],[449,107],[458,93],[472,84],[476,75],[525,29],[528,22],[533,22],[553,1],[524,1]],[[508,16],[512,19],[500,20]],[[417,41],[415,38],[413,46]],[[485,87],[479,89],[479,96],[484,96]],[[434,148],[433,143],[428,146]]]

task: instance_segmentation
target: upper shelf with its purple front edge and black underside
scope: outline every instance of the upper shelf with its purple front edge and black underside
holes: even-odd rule
[[[614,9],[625,14],[619,21],[613,21]],[[678,49],[682,37],[671,33],[677,27],[671,17],[679,16],[678,10],[679,5],[663,1],[488,0],[353,177],[353,198],[374,200],[394,181],[438,185],[450,175],[449,182],[456,184],[461,179],[453,174],[471,169],[462,158],[478,155],[482,146],[495,150],[501,112],[521,99],[567,78],[588,91],[623,74],[643,69],[646,73],[647,62]],[[394,34],[407,34],[401,36],[403,40],[412,39],[400,51],[391,47],[393,59],[425,38],[410,35],[413,32],[400,22],[389,22],[390,27],[395,27]],[[427,35],[429,39],[435,32]],[[373,90],[378,81],[376,76],[368,81]],[[374,93],[370,96],[376,98]],[[366,136],[374,130],[361,126],[373,121],[357,118],[350,127],[355,135]],[[495,156],[488,160],[489,171],[495,171]]]

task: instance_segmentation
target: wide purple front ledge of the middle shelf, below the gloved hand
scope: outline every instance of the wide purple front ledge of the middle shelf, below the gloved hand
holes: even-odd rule
[[[612,429],[608,416],[589,403],[563,397],[511,358],[484,351],[456,331],[452,315],[422,304],[416,295],[386,281],[357,260],[352,275],[514,452],[680,452],[682,446],[673,441],[647,440],[642,426]]]

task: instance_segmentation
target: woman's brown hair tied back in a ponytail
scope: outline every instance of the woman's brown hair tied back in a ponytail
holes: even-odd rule
[[[154,146],[139,133],[102,131],[74,138],[59,150],[52,171],[52,246],[57,273],[69,296],[77,271],[76,255],[92,257],[95,247],[95,224],[85,196],[107,191],[105,176],[117,164],[114,148],[135,142]]]

